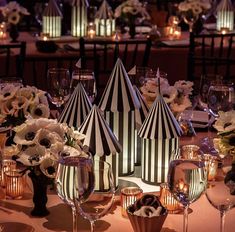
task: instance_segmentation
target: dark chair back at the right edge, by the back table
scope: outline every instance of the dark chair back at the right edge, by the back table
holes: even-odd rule
[[[235,34],[190,33],[188,79],[198,81],[207,74],[235,77]]]

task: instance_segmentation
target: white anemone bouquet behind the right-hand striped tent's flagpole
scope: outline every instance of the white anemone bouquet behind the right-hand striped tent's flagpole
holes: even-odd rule
[[[193,91],[193,82],[177,81],[173,86],[165,78],[151,78],[146,81],[144,86],[140,88],[146,103],[151,106],[160,92],[165,102],[175,115],[183,112],[188,107],[192,106],[189,96]]]

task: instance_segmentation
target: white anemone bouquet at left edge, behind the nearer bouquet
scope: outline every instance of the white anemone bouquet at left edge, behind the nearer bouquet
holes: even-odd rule
[[[0,89],[0,125],[14,127],[28,117],[50,116],[46,93],[31,86],[5,85]]]

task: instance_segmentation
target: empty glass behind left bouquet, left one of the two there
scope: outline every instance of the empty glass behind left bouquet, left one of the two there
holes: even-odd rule
[[[50,68],[47,72],[48,97],[60,112],[70,96],[70,74],[65,68]]]

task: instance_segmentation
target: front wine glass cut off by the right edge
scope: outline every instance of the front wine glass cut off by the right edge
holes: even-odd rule
[[[225,157],[225,159],[228,158]],[[222,161],[222,166],[217,169],[216,177],[208,181],[206,189],[208,201],[220,211],[220,232],[225,231],[226,212],[235,207],[235,188],[232,181],[232,178],[234,180],[235,166],[233,172],[232,170],[228,171],[229,166],[225,164],[225,159]]]

